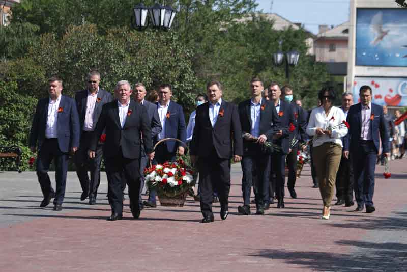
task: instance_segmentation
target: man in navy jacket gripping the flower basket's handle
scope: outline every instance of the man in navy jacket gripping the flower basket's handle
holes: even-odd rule
[[[185,125],[184,111],[182,106],[176,102],[171,101],[172,87],[169,84],[163,84],[158,87],[159,101],[157,103],[158,116],[162,130],[157,135],[157,141],[165,138],[175,138],[186,142],[187,133]],[[166,161],[175,161],[177,159],[177,152],[179,155],[184,155],[185,148],[179,142],[169,140],[160,143],[156,147],[156,156],[154,164],[162,164]],[[156,204],[156,191],[150,190],[149,200],[143,202],[144,206],[155,208]]]

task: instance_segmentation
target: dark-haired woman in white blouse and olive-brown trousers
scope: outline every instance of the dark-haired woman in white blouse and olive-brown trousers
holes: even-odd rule
[[[333,106],[335,91],[332,87],[319,91],[318,98],[322,105],[312,110],[307,133],[313,137],[313,161],[324,202],[322,218],[329,219],[336,173],[342,156],[341,138],[347,134],[347,127],[343,123],[346,121],[343,111]]]

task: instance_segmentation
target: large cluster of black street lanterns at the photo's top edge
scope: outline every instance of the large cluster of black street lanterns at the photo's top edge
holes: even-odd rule
[[[176,10],[170,6],[162,6],[158,3],[149,8],[143,4],[138,4],[133,8],[133,11],[132,25],[136,30],[144,30],[147,28],[149,24],[148,14],[150,14],[153,28],[169,30],[177,13]]]

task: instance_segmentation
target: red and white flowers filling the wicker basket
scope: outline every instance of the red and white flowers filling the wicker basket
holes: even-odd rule
[[[153,165],[144,170],[144,178],[158,194],[175,197],[187,192],[193,184],[193,171],[182,159]]]

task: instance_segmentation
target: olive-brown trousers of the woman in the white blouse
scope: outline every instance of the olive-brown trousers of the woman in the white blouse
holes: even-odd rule
[[[335,143],[324,143],[312,150],[319,192],[325,207],[331,206],[334,196],[336,173],[338,172],[342,147]]]

